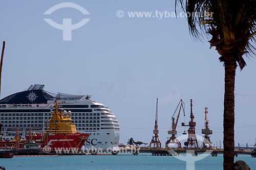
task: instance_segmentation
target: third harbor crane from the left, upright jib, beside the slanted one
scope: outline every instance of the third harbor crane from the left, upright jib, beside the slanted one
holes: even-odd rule
[[[187,130],[188,136],[187,141],[184,142],[184,145],[186,148],[199,148],[199,144],[197,142],[197,135],[196,135],[196,122],[194,122],[194,113],[192,111],[192,99],[190,99],[190,122],[188,125],[185,125],[185,123],[181,123],[181,126],[189,126],[189,129]]]

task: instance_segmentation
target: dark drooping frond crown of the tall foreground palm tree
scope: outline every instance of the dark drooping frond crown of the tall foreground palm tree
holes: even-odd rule
[[[220,55],[236,54],[241,69],[246,65],[243,54],[255,54],[256,0],[176,0],[178,4],[184,12],[197,14],[187,17],[190,34],[196,39],[211,35],[211,47]]]

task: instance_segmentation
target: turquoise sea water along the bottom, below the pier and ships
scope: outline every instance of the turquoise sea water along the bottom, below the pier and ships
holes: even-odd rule
[[[39,170],[39,169],[188,169],[186,161],[197,159],[194,156],[181,154],[180,156],[152,156],[152,155],[73,155],[73,156],[22,156],[11,159],[0,159],[0,165],[6,170]],[[256,158],[250,155],[239,155],[234,158],[244,160],[251,169],[256,169]],[[189,168],[190,169],[190,168]],[[195,169],[223,169],[223,155],[211,155],[195,162]]]

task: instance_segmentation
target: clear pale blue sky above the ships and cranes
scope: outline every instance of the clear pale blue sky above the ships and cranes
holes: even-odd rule
[[[66,2],[90,14],[61,8],[44,15]],[[209,48],[210,37],[198,41],[190,36],[180,10],[179,17],[168,17],[174,11],[174,1],[168,0],[1,1],[0,41],[6,41],[1,99],[31,84],[44,84],[51,92],[91,94],[93,101],[109,107],[118,118],[120,143],[131,137],[149,143],[158,98],[163,145],[180,99],[186,116],[180,116],[178,136],[187,130],[181,122],[188,124],[193,99],[196,134],[202,135],[208,107],[211,141],[219,146],[223,141],[223,63],[215,48]],[[131,12],[152,15],[133,17]],[[72,25],[90,20],[71,31],[72,40],[63,41],[63,31],[45,18],[60,25],[63,18],[70,18]],[[244,58],[247,66],[236,74],[235,145],[253,145],[256,137],[256,60]]]

